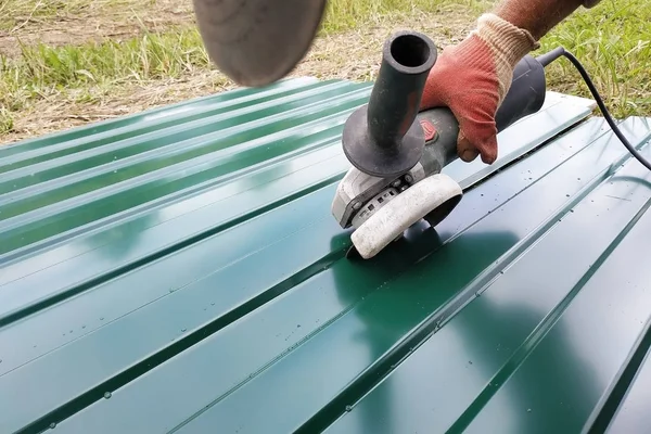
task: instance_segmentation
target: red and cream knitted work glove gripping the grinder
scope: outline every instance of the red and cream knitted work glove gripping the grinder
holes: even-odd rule
[[[495,115],[518,62],[538,47],[533,36],[495,14],[484,14],[458,46],[446,48],[430,72],[421,110],[447,106],[459,122],[459,157],[486,164],[497,158]]]

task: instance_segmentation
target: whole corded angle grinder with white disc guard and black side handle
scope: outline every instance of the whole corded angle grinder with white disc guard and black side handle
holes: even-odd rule
[[[498,132],[545,103],[545,66],[556,54],[527,55],[496,114]],[[458,158],[459,123],[447,107],[419,112],[436,47],[416,31],[384,43],[369,103],[346,120],[344,153],[353,167],[340,182],[332,214],[355,228],[349,254],[375,256],[421,219],[432,227],[459,204],[461,187],[442,169]]]

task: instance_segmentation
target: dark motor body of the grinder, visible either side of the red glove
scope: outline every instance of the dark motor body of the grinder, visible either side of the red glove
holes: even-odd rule
[[[545,103],[545,67],[533,56],[524,56],[513,69],[513,80],[505,101],[496,113],[497,132],[538,112]],[[447,107],[420,112],[417,116],[425,133],[421,159],[426,174],[439,173],[458,158],[459,123]]]

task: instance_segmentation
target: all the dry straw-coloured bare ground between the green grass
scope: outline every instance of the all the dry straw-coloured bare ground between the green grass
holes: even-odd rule
[[[158,0],[158,2],[161,1]],[[193,20],[191,10],[176,10],[171,0],[163,1],[165,5],[162,5],[162,11],[165,12],[157,11],[156,20],[150,17],[149,23],[153,26],[169,26],[179,23],[191,25]],[[135,15],[127,15],[129,20],[126,21],[122,15],[110,16],[110,20],[102,18],[95,11],[94,15],[89,13],[88,22],[93,23],[93,28],[102,29],[101,31],[104,31],[103,37],[132,36],[135,31],[138,31],[138,26],[132,20]],[[400,16],[396,20],[385,20],[371,28],[321,37],[315,41],[308,55],[291,76],[314,76],[320,79],[373,79],[380,66],[382,44],[391,33],[404,28],[424,31],[443,48],[464,37],[470,30],[474,18],[475,16],[469,15],[467,9],[451,8],[446,11],[445,21],[419,13],[412,16]],[[54,27],[61,24],[61,22],[56,22],[51,23],[50,26]],[[66,30],[61,29],[61,27],[56,29],[59,33],[66,31],[66,38],[72,38],[65,41],[60,40],[61,43],[80,42],[93,37],[94,30],[84,33],[77,29],[68,34],[67,31],[74,26],[82,26],[82,24],[76,22],[74,25],[66,24]],[[33,26],[29,24],[22,27],[18,34],[22,35],[21,39],[27,40],[26,35],[34,35],[37,31],[36,29],[40,28],[38,25]],[[31,31],[31,34],[28,31]],[[54,41],[59,38],[59,36],[55,36],[59,35],[56,31],[43,36],[43,38],[50,38]],[[197,71],[174,80],[154,80],[126,84],[119,87],[85,89],[85,98],[80,98],[74,91],[65,92],[36,101],[17,115],[14,114],[13,128],[3,137],[0,136],[0,143],[10,143],[90,122],[108,119],[191,98],[204,97],[231,88],[233,88],[233,84],[219,72]]]

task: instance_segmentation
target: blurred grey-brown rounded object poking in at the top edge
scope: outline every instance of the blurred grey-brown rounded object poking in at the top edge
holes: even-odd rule
[[[266,86],[303,60],[327,0],[193,0],[210,60],[241,86]]]

